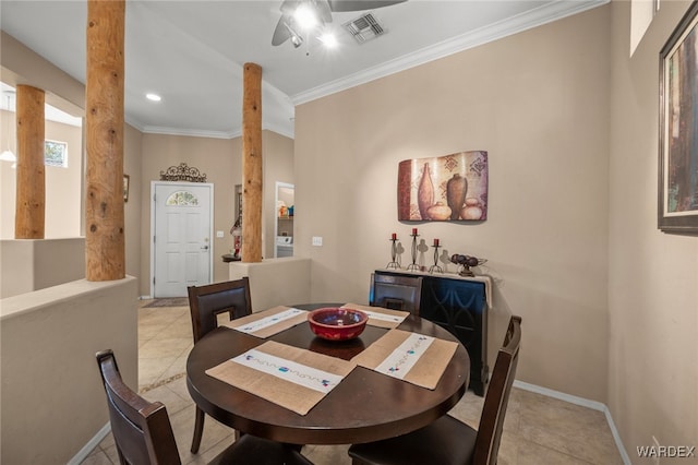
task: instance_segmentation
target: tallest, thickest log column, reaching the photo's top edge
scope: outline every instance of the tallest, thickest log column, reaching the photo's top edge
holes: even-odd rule
[[[85,86],[87,281],[125,276],[123,236],[124,0],[87,1]]]

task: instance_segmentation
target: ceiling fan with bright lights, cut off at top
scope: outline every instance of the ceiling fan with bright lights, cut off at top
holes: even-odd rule
[[[333,12],[373,10],[407,0],[284,0],[281,17],[276,24],[272,45],[291,39],[293,47],[303,44],[301,32],[317,24],[332,23]]]

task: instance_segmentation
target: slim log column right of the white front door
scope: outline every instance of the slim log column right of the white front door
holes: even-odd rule
[[[242,96],[242,261],[262,261],[262,67],[245,63]]]

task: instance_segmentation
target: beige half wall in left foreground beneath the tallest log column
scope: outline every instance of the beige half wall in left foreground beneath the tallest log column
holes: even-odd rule
[[[0,341],[0,463],[68,463],[108,421],[95,353],[113,349],[127,384],[139,384],[137,279],[4,298]],[[37,402],[50,408],[27,408]]]

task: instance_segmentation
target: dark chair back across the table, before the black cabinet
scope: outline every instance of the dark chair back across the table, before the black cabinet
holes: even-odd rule
[[[421,298],[422,278],[420,276],[371,273],[370,306],[404,310],[419,315]]]

